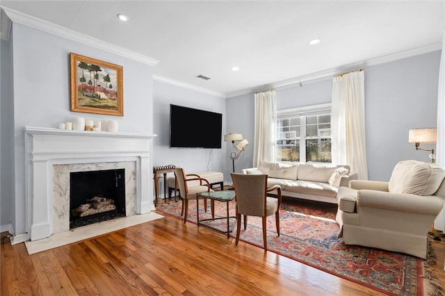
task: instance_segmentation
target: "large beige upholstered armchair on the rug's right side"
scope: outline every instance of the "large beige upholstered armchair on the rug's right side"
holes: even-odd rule
[[[350,181],[337,193],[339,238],[426,258],[428,231],[445,202],[444,178],[435,163],[401,161],[389,182]]]

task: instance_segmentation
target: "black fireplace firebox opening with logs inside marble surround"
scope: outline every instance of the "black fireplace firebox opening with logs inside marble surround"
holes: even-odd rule
[[[70,229],[125,216],[125,170],[70,172]]]

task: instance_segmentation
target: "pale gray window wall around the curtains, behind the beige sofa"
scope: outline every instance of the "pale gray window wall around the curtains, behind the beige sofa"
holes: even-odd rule
[[[437,125],[439,64],[440,51],[434,51],[364,68],[369,179],[388,181],[398,161],[429,161],[428,152],[408,144],[408,131]],[[331,78],[278,89],[277,110],[330,103],[331,91]],[[243,129],[252,147],[253,106],[253,94],[245,94],[227,99],[226,108],[227,130]],[[252,147],[239,167],[252,166]]]

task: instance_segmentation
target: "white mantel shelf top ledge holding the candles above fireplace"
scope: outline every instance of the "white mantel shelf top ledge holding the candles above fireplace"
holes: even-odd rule
[[[155,138],[156,134],[149,133],[129,133],[108,131],[67,131],[65,129],[54,129],[48,127],[25,126],[24,132],[30,135],[63,135],[72,137],[104,137],[104,138]]]

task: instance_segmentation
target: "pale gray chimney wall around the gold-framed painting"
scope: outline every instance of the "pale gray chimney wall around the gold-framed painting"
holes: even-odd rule
[[[90,120],[118,120],[120,131],[153,133],[153,74],[152,67],[144,63],[21,24],[14,23],[11,34],[14,101],[13,108],[7,112],[14,113],[15,155],[3,149],[1,155],[2,159],[13,158],[11,169],[15,170],[15,175],[12,184],[15,187],[2,190],[15,192],[11,206],[12,222],[15,233],[19,234],[26,231],[24,126],[57,127],[58,122],[71,121],[72,117],[81,116]],[[70,52],[122,65],[124,117],[70,111]],[[4,83],[3,79],[2,76]],[[9,198],[1,195],[2,206],[9,203],[6,200]]]

